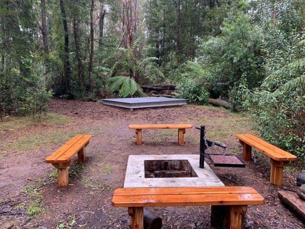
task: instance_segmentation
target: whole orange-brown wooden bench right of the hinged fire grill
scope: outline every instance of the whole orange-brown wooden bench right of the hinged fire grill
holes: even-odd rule
[[[252,147],[270,157],[271,175],[270,183],[274,185],[283,185],[283,167],[289,161],[296,161],[297,157],[281,150],[251,134],[236,134],[242,145],[242,158],[245,161],[251,160]]]

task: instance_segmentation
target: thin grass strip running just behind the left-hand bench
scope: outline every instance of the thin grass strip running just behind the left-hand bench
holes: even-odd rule
[[[53,145],[57,143],[67,142],[69,139],[73,138],[77,134],[88,134],[89,132],[92,132],[92,130],[96,130],[96,127],[70,130],[66,132],[61,132],[62,130],[59,130],[34,134],[27,138],[17,140],[14,143],[9,143],[5,145],[2,150],[15,149],[19,151],[29,151],[34,148],[38,148],[45,145]]]

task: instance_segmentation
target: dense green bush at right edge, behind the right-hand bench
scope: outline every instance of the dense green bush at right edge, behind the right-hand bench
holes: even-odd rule
[[[305,158],[305,35],[287,36],[284,49],[269,49],[266,68],[270,75],[262,86],[239,86],[240,99],[264,139]],[[277,55],[281,53],[282,55]]]

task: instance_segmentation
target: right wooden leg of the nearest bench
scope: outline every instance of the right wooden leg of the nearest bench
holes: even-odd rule
[[[226,228],[241,229],[247,208],[247,205],[229,206],[227,211]]]

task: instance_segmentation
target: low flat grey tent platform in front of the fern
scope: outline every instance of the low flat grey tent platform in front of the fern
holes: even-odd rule
[[[165,97],[142,97],[125,99],[103,99],[103,104],[123,107],[128,109],[147,108],[147,107],[165,107],[186,105],[185,99],[172,99]]]

